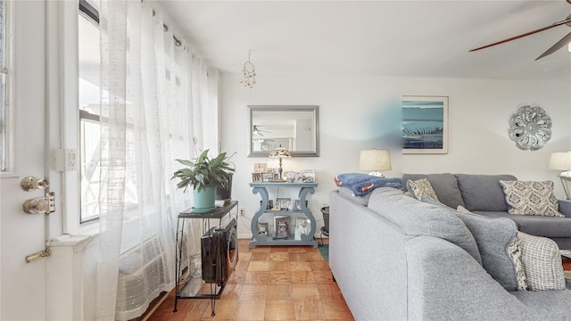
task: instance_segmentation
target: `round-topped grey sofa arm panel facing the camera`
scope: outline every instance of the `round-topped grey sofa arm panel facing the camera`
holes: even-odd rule
[[[467,251],[443,239],[418,236],[406,244],[410,320],[523,320],[525,305]]]

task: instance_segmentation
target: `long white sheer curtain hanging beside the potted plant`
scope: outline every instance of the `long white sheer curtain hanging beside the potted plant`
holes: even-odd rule
[[[100,27],[97,319],[127,320],[174,287],[176,220],[191,199],[170,180],[173,160],[217,150],[218,73],[176,45],[146,2],[103,0]]]

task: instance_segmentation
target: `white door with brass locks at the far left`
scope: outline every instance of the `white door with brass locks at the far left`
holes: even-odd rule
[[[26,256],[45,249],[49,231],[45,214],[26,214],[22,204],[46,191],[25,192],[24,177],[45,178],[46,53],[45,1],[5,1],[12,5],[7,51],[13,53],[12,166],[0,173],[0,319],[46,319],[46,259],[26,263]],[[10,39],[9,39],[10,40]],[[9,107],[10,108],[10,107]]]

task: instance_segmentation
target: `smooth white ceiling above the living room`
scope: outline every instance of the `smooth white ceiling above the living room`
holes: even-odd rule
[[[258,78],[571,79],[567,47],[534,61],[571,31],[567,25],[468,53],[565,20],[565,0],[160,3],[176,36],[222,73],[241,73],[252,50]]]

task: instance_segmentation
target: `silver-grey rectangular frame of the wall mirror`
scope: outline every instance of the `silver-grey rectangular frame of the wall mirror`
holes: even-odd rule
[[[292,157],[319,157],[319,106],[317,105],[248,105],[250,126],[249,140],[248,140],[248,157],[269,157],[269,152],[266,151],[253,151],[253,114],[257,111],[276,112],[276,117],[279,118],[279,113],[284,111],[312,111],[313,113],[313,128],[315,128],[315,136],[313,137],[312,151],[291,151]]]

